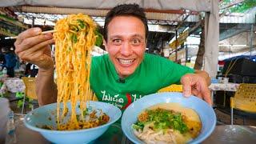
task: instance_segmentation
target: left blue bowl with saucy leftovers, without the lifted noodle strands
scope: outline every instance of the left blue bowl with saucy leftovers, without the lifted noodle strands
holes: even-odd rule
[[[79,119],[81,114],[78,106],[76,110]],[[58,130],[56,108],[57,103],[53,103],[34,109],[26,114],[25,126],[30,130],[38,131],[53,143],[88,143],[100,137],[111,124],[121,118],[122,114],[116,106],[105,102],[90,101],[87,103],[88,109],[83,112],[86,115],[85,120],[78,122],[76,130],[68,130],[69,125],[60,125],[60,130]],[[62,104],[60,108],[62,109]],[[70,103],[68,103],[66,117],[60,123],[67,123],[70,120],[70,112]]]

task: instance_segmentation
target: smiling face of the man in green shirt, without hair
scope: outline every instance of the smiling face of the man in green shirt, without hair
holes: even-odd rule
[[[108,25],[106,50],[120,78],[134,73],[146,50],[145,28],[142,21],[132,16],[118,16]]]

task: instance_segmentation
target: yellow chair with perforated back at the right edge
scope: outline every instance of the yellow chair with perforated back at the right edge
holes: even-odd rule
[[[234,97],[230,98],[230,117],[233,125],[233,109],[256,113],[256,84],[241,83]]]

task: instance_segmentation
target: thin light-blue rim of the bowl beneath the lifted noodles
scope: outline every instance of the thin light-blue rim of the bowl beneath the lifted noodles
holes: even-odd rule
[[[82,130],[46,130],[46,129],[38,128],[37,126],[31,126],[28,122],[26,122],[26,119],[29,117],[29,115],[31,115],[34,112],[34,110],[37,110],[37,109],[40,108],[40,107],[38,107],[37,109],[34,109],[34,110],[30,111],[30,113],[26,114],[25,118],[23,119],[23,122],[24,122],[24,124],[25,124],[25,126],[27,128],[29,128],[30,130],[38,131],[38,132],[54,133],[54,134],[73,134],[73,133],[84,133],[84,132],[90,131],[90,130],[102,129],[103,127],[110,126],[114,122],[117,122],[118,119],[121,118],[121,116],[122,116],[122,111],[117,106],[114,106],[114,105],[112,105],[110,103],[98,102],[98,101],[89,101],[89,102],[100,103],[100,104],[103,104],[103,105],[110,105],[110,106],[112,106],[114,109],[116,109],[118,111],[117,112],[118,117],[115,118],[115,119],[111,119],[110,122],[107,122],[104,125],[96,126],[96,127],[89,128],[89,129],[82,129]],[[48,104],[48,105],[44,105],[44,106],[50,106],[50,105],[56,105],[56,104],[57,104],[57,102],[54,102],[54,103],[51,103],[51,104]],[[41,107],[43,107],[43,106],[41,106]]]

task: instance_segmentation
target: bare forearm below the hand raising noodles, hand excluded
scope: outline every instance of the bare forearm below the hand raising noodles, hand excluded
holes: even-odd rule
[[[38,70],[36,78],[36,92],[39,106],[54,103],[57,101],[57,86],[54,82],[54,70]]]

